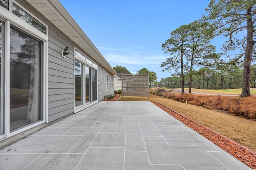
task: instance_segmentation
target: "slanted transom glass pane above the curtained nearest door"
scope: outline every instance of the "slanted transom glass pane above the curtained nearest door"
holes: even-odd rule
[[[30,14],[28,14],[27,12],[22,10],[16,4],[14,4],[14,3],[12,3],[12,4],[13,4],[12,5],[12,13],[14,15],[18,16],[19,18],[21,18],[22,20],[26,21],[27,23],[29,23],[30,25],[32,25],[33,27],[35,27],[36,29],[38,29],[42,33],[46,34],[46,26],[44,26],[38,20],[33,18]]]

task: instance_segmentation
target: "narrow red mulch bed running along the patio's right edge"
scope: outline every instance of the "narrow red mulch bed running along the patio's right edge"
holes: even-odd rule
[[[223,135],[220,135],[216,131],[209,129],[162,104],[159,104],[158,102],[152,103],[184,123],[186,126],[193,129],[206,139],[212,141],[212,143],[225,150],[229,154],[233,155],[235,158],[237,158],[250,168],[256,169],[256,152],[236,143],[235,141],[232,141],[231,139],[228,139],[227,137],[224,137]]]

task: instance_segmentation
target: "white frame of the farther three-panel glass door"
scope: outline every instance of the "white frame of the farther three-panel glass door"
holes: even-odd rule
[[[78,111],[81,111],[89,106],[92,106],[96,103],[98,103],[98,65],[94,62],[88,62],[88,61],[92,61],[89,57],[87,57],[86,55],[84,55],[84,53],[82,53],[80,50],[78,50],[76,47],[74,47],[74,51],[77,51],[78,53],[80,53],[79,55],[76,55],[76,53],[74,53],[74,61],[78,61],[82,64],[83,68],[82,68],[82,76],[84,76],[84,73],[85,73],[85,66],[88,66],[90,69],[94,69],[96,70],[97,72],[97,100],[96,101],[92,101],[92,92],[90,93],[90,98],[91,98],[91,101],[89,103],[86,103],[84,98],[85,98],[85,78],[83,78],[83,82],[82,82],[82,90],[83,90],[83,93],[82,93],[82,105],[80,106],[77,106],[75,107],[75,101],[74,101],[74,113],[77,113]],[[82,55],[82,56],[81,56]],[[74,74],[75,76],[75,74]],[[91,76],[92,76],[92,71],[91,71]],[[75,77],[74,77],[74,84],[75,84]],[[92,78],[90,80],[90,88],[91,88],[91,91],[92,91]],[[75,90],[75,89],[74,89]],[[74,92],[74,95],[75,95],[75,92]]]

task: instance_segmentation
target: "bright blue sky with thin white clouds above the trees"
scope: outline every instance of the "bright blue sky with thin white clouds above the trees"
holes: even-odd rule
[[[171,31],[206,14],[208,0],[60,0],[112,67],[171,76],[160,66],[170,55],[162,43]],[[213,44],[217,50],[222,42]]]

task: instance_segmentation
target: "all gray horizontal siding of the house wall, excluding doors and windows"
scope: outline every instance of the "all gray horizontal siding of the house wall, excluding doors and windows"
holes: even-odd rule
[[[16,0],[39,20],[48,25],[48,116],[49,122],[74,113],[74,47],[98,64],[90,55],[70,40],[62,31],[24,0]],[[70,54],[61,57],[61,50],[68,45]],[[112,77],[98,64],[98,101],[113,94]],[[109,76],[109,90],[106,91],[106,74]]]

